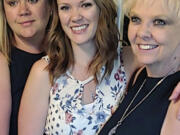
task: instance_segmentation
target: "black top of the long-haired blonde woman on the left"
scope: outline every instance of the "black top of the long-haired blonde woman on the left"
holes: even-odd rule
[[[10,120],[10,135],[17,135],[17,117],[20,99],[25,82],[35,61],[44,56],[44,53],[32,54],[13,47],[11,50],[10,79],[12,95],[12,111]]]

